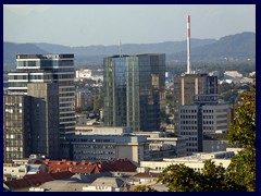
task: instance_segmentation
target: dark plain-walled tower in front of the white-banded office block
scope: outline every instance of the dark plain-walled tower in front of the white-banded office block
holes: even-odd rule
[[[59,159],[59,86],[58,83],[30,83],[30,154]]]

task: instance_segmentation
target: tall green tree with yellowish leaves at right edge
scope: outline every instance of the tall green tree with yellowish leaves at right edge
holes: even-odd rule
[[[228,140],[232,145],[243,148],[232,158],[228,173],[248,192],[256,191],[256,86],[250,91],[243,93],[241,103],[236,108],[236,118],[228,130]]]

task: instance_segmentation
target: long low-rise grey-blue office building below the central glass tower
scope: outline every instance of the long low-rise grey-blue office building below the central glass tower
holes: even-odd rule
[[[127,158],[138,164],[142,160],[186,155],[186,138],[173,133],[133,133],[129,127],[87,127],[84,130],[80,126],[82,131],[76,128],[78,135],[66,137],[61,146],[65,159],[97,161]]]

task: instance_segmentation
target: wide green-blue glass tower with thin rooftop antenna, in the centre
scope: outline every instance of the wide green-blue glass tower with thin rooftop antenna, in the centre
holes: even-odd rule
[[[104,59],[103,66],[104,125],[159,131],[165,54],[113,56]]]

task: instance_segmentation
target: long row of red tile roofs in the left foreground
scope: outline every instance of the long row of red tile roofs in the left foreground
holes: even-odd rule
[[[42,160],[47,166],[47,173],[25,175],[21,180],[7,181],[5,184],[12,189],[39,186],[53,180],[70,179],[74,173],[97,174],[110,171],[135,172],[136,166],[128,159],[117,159],[98,162],[67,161],[67,160]]]

